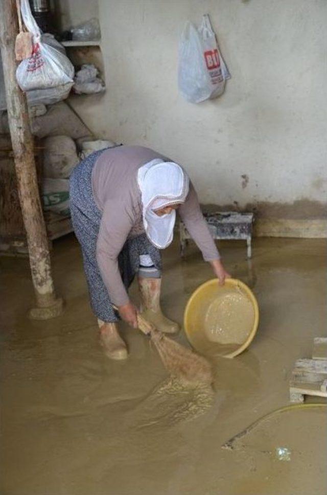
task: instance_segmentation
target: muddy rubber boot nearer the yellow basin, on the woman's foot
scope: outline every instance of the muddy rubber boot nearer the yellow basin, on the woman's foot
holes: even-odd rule
[[[141,296],[142,316],[153,323],[160,332],[178,332],[178,323],[166,318],[160,308],[161,279],[138,277],[138,289]]]

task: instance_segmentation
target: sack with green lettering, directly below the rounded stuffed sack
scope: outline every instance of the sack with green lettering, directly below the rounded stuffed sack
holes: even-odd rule
[[[69,216],[69,179],[45,177],[42,182],[42,203],[44,211]]]

